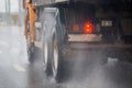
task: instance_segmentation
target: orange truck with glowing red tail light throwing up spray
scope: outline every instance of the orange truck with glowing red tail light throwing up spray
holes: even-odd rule
[[[72,50],[132,61],[132,0],[23,0],[29,61],[41,41],[44,70],[58,80]],[[114,50],[114,51],[113,51]],[[96,53],[95,53],[96,55]]]

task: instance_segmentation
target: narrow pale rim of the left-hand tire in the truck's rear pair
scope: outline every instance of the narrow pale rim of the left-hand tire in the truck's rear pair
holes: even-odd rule
[[[44,41],[44,53],[43,53],[44,70],[46,70],[46,66],[47,66],[47,53],[48,53],[47,42]]]

